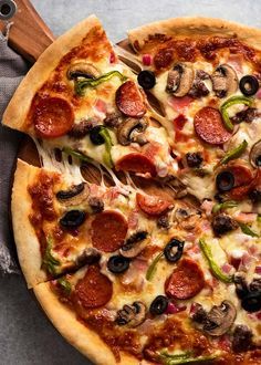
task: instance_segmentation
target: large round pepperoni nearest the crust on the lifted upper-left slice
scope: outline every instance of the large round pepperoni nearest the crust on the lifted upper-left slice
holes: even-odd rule
[[[36,134],[42,138],[55,138],[71,131],[74,123],[72,106],[61,97],[44,97],[33,112]]]

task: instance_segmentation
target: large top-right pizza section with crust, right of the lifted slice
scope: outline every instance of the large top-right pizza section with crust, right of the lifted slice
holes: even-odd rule
[[[177,176],[201,201],[227,192],[237,200],[260,196],[260,35],[205,18],[128,32],[143,69],[139,84],[161,105]],[[233,179],[226,188],[225,173]]]

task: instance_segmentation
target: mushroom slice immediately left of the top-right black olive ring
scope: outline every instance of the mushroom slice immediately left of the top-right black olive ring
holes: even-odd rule
[[[212,76],[213,92],[218,97],[226,97],[238,88],[238,76],[236,71],[228,64],[219,65]]]

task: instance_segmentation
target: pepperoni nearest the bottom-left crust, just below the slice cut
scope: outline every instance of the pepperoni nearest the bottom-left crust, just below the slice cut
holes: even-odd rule
[[[105,305],[112,295],[112,282],[97,265],[91,265],[75,286],[74,301],[85,309],[93,309]]]

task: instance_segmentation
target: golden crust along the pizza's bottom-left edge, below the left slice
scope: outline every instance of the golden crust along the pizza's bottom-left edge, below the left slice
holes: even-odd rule
[[[137,358],[130,357],[127,354],[121,354],[121,362],[117,363],[109,347],[95,332],[76,320],[75,313],[59,301],[58,296],[52,292],[49,283],[39,284],[33,288],[33,291],[52,324],[71,345],[75,346],[83,355],[87,356],[95,364],[139,364]],[[146,362],[143,364],[146,364]]]

